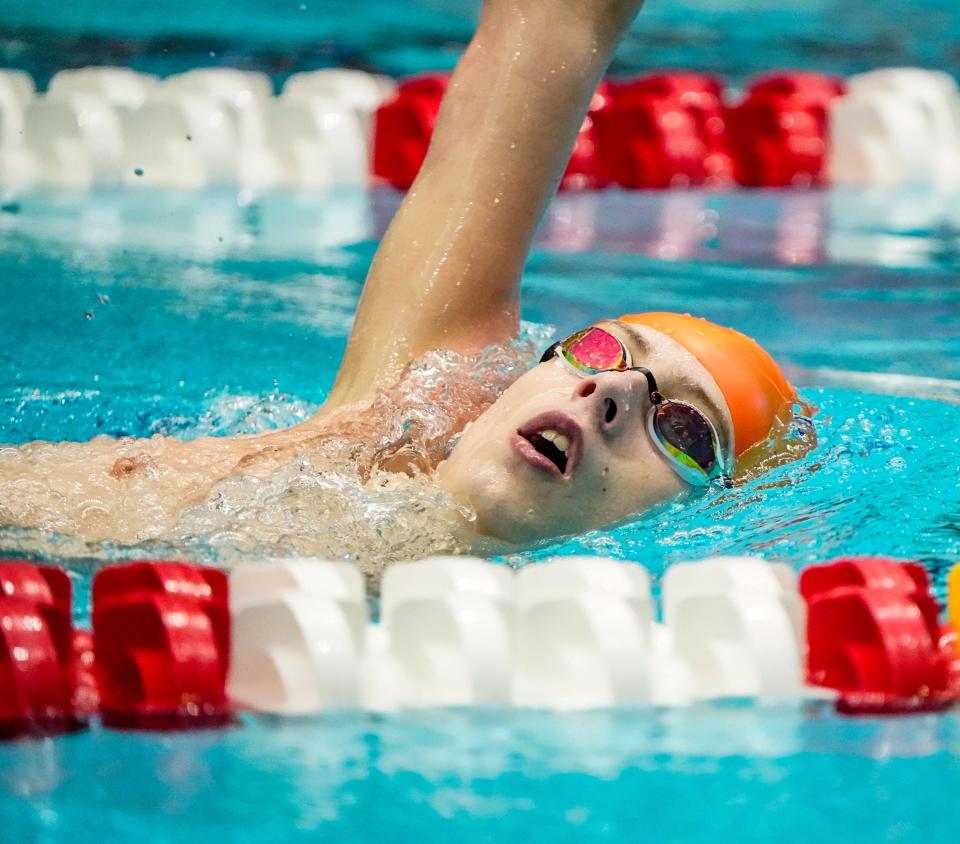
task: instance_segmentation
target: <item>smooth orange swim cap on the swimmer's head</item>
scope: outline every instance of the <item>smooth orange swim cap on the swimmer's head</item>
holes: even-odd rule
[[[766,439],[774,424],[792,413],[796,390],[773,358],[746,334],[690,314],[624,314],[620,319],[662,331],[703,364],[730,408],[737,457]]]

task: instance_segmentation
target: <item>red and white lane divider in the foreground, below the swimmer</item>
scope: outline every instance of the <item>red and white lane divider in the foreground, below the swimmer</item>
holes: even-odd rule
[[[229,591],[229,597],[228,597]],[[636,563],[560,558],[517,572],[435,557],[395,565],[371,624],[357,570],[293,560],[222,571],[101,570],[93,631],[62,570],[0,561],[0,736],[224,726],[242,708],[514,705],[582,710],[836,697],[845,713],[960,699],[960,566],[947,619],[917,563],[806,569],[749,557],[678,564],[657,620]]]

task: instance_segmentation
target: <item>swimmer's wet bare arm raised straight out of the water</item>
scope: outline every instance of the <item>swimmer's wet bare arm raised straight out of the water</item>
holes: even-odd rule
[[[327,409],[435,348],[513,336],[520,273],[590,98],[642,0],[486,0],[423,167],[363,289]]]

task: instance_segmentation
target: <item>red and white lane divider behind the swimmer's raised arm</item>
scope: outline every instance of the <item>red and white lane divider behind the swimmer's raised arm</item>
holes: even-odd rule
[[[61,71],[37,94],[0,70],[0,187],[123,184],[246,190],[371,181],[406,189],[448,77],[354,70],[291,76],[125,68]],[[807,71],[745,92],[696,72],[601,83],[561,189],[960,184],[953,77],[888,68],[840,80]]]

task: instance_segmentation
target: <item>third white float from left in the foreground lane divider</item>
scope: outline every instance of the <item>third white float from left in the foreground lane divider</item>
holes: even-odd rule
[[[636,563],[567,557],[517,575],[513,702],[556,710],[650,699],[650,579]]]

